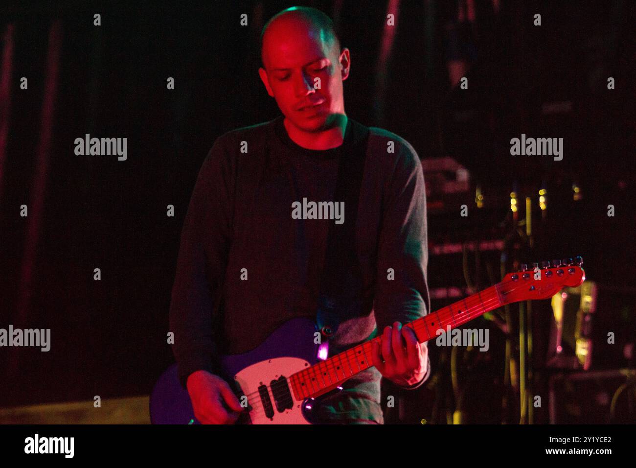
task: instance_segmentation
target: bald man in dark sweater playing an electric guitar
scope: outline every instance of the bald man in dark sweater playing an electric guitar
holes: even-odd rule
[[[234,423],[243,409],[219,355],[256,348],[291,318],[315,318],[329,223],[337,220],[294,216],[290,206],[333,201],[339,162],[364,127],[345,113],[350,51],[321,11],[292,7],[270,19],[261,60],[258,73],[282,115],[215,141],[191,197],[172,290],[179,378],[202,423]],[[380,378],[413,389],[430,374],[425,343],[401,326],[425,315],[429,301],[422,166],[403,138],[364,129],[352,291],[359,301],[341,317],[329,355],[382,339],[373,367],[316,399],[319,423],[384,423]]]

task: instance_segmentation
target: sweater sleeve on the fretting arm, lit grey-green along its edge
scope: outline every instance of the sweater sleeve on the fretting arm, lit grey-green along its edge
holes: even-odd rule
[[[403,140],[386,183],[378,245],[375,320],[378,334],[387,325],[403,325],[426,315],[430,307],[427,285],[428,245],[426,192],[420,159]],[[424,379],[431,374],[430,360]]]

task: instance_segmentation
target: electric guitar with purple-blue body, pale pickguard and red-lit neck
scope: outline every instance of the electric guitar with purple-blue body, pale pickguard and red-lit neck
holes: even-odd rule
[[[583,259],[542,262],[532,269],[509,273],[494,286],[486,288],[450,306],[404,324],[416,334],[420,343],[438,336],[473,318],[506,304],[548,299],[563,287],[576,287],[585,280]],[[350,377],[371,364],[371,342],[328,357],[328,342],[314,344],[317,327],[312,320],[294,318],[275,330],[248,353],[221,358],[221,365],[237,384],[237,397],[246,405],[239,423],[310,424],[312,401],[331,392]],[[153,424],[198,423],[188,390],[172,365],[158,379],[150,396]]]

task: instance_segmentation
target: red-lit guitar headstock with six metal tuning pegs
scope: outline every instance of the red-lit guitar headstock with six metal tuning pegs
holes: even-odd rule
[[[508,273],[500,283],[502,304],[548,299],[564,287],[577,287],[585,280],[583,259],[552,260],[532,266],[521,265],[521,270]]]

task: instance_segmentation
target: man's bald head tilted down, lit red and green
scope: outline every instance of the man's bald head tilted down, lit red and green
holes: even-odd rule
[[[349,49],[340,50],[333,22],[322,11],[293,6],[272,17],[261,34],[261,62],[258,73],[268,94],[301,131],[322,131],[345,113]]]

